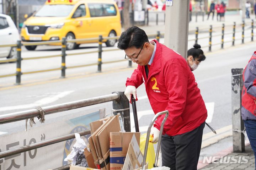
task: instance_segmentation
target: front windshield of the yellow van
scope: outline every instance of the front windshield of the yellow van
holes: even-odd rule
[[[35,17],[65,17],[68,16],[74,5],[44,5],[40,8]]]

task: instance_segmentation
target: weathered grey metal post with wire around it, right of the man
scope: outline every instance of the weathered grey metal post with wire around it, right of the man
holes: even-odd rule
[[[233,127],[233,151],[245,151],[245,137],[243,133],[234,131],[244,130],[244,121],[241,117],[241,94],[242,94],[242,68],[232,68],[231,73],[231,106],[232,106],[232,127]]]

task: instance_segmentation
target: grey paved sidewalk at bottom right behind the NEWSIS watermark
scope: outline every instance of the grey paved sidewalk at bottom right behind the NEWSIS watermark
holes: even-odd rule
[[[249,143],[245,146],[245,152],[243,153],[234,153],[233,147],[231,147],[213,155],[213,157],[223,157],[221,159],[224,162],[228,162],[228,159],[230,159],[230,161],[228,163],[220,163],[220,160],[216,160],[210,164],[208,164],[207,161],[205,163],[199,161],[197,168],[199,170],[255,170],[255,157]],[[235,160],[237,163],[235,163]],[[247,163],[246,160],[248,160]]]

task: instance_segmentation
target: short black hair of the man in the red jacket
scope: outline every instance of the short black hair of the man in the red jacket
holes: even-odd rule
[[[146,42],[149,43],[149,40],[145,31],[139,27],[133,26],[122,32],[118,39],[117,48],[121,50],[126,50],[132,46],[135,46],[135,48],[141,48]]]

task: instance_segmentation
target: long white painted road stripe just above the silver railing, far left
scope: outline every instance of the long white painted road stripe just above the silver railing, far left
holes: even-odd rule
[[[16,105],[16,106],[6,106],[6,107],[1,107],[0,111],[7,111],[7,110],[18,110],[18,109],[28,109],[28,108],[35,108],[37,106],[42,106],[45,104],[49,104],[52,102],[57,101],[60,98],[65,97],[66,95],[69,95],[70,93],[73,93],[74,91],[65,91],[65,92],[61,92],[57,95],[54,96],[50,96],[50,97],[46,97],[40,100],[37,100],[34,103],[31,104],[23,104],[23,105]]]

